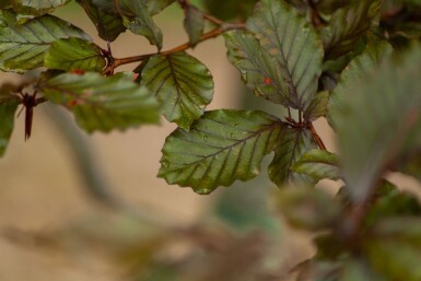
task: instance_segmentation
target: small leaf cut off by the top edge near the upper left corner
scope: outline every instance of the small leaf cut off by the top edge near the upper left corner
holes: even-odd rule
[[[70,0],[48,0],[48,1],[32,1],[32,0],[11,0],[14,12],[16,14],[30,14],[40,16],[46,13],[51,13],[59,7],[70,2]]]

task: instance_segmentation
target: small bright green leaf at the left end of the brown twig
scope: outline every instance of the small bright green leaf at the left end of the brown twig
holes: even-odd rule
[[[102,72],[106,60],[102,49],[92,42],[72,37],[54,42],[44,57],[44,66],[66,71]]]

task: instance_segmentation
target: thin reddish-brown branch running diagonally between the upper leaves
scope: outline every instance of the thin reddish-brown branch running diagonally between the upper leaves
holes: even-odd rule
[[[201,37],[200,37],[200,40],[199,43],[201,42],[204,42],[204,40],[208,40],[210,38],[214,38],[214,37],[218,37],[219,35],[227,32],[227,31],[232,31],[232,30],[243,30],[245,28],[245,25],[244,23],[237,23],[237,24],[223,24],[222,26],[220,27],[217,27],[210,32],[207,32],[204,33]],[[140,55],[140,56],[135,56],[135,57],[127,57],[127,58],[114,58],[114,63],[112,66],[109,66],[107,68],[107,70],[109,69],[115,69],[119,66],[122,66],[122,65],[127,65],[127,63],[131,63],[131,62],[137,62],[137,61],[142,61],[144,59],[148,59],[152,56],[155,56],[155,55],[169,55],[169,54],[173,54],[173,52],[177,52],[177,51],[183,51],[183,50],[186,50],[186,49],[189,49],[191,48],[194,45],[191,45],[190,43],[185,43],[183,45],[179,45],[175,48],[172,48],[172,49],[168,49],[168,50],[165,50],[165,51],[161,51],[161,52],[151,52],[151,54],[144,54],[144,55]]]

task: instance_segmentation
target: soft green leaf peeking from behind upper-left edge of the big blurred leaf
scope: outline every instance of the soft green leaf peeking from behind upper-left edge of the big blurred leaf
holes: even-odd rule
[[[365,50],[356,56],[342,71],[338,84],[329,97],[327,119],[330,126],[335,128],[331,116],[343,112],[340,101],[348,98],[347,95],[352,95],[350,89],[360,83],[362,78],[378,69],[382,61],[387,58],[391,51],[391,46],[387,42],[371,37]]]

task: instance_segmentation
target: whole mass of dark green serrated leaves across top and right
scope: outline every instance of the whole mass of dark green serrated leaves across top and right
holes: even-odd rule
[[[209,194],[255,177],[270,153],[269,178],[279,187],[344,182],[335,198],[305,187],[280,191],[282,213],[293,225],[324,231],[315,238],[317,255],[296,267],[299,280],[421,279],[414,266],[421,258],[421,207],[384,179],[389,171],[421,175],[421,46],[413,43],[421,36],[419,1],[225,3],[241,7],[235,11],[206,1],[221,19],[244,19],[239,24],[177,1],[189,43],[162,51],[163,35],[152,16],[175,1],[79,0],[103,39],[113,42],[129,30],[157,48],[122,59],[48,14],[66,2],[2,5],[0,68],[47,70],[30,97],[27,87],[1,89],[1,153],[19,104],[28,113],[45,101],[62,105],[87,132],[157,122],[162,114],[178,126],[162,150],[159,176],[169,184]],[[206,32],[206,21],[217,27]],[[185,50],[221,34],[244,83],[285,116],[206,112],[212,75]],[[133,61],[140,61],[137,75],[114,74]],[[337,132],[338,155],[326,150],[313,127],[320,117]]]

